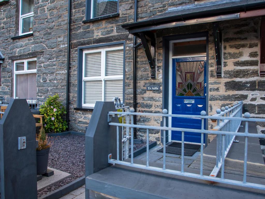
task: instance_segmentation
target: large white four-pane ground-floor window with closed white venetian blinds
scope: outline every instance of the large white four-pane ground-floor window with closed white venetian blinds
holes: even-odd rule
[[[123,46],[83,51],[82,106],[94,107],[96,101],[123,100]]]

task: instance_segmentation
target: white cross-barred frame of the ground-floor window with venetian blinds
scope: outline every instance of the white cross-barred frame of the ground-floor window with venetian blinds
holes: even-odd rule
[[[92,49],[92,50],[83,50],[83,69],[82,69],[82,106],[83,107],[94,107],[95,104],[85,104],[84,103],[84,95],[85,95],[85,90],[84,90],[84,84],[85,81],[102,81],[102,101],[104,101],[105,97],[105,80],[123,80],[123,75],[108,75],[106,76],[106,51],[110,50],[124,50],[123,46],[115,46],[115,47],[103,47],[103,48],[97,48],[97,49]],[[96,76],[96,77],[85,77],[85,55],[87,53],[96,53],[96,52],[101,52],[101,75]],[[123,60],[125,57],[123,56]],[[124,66],[123,66],[124,68]],[[123,72],[122,72],[123,73]],[[124,85],[123,85],[124,86]]]

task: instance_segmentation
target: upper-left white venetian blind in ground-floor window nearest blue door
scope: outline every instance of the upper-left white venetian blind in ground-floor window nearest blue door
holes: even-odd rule
[[[101,52],[85,54],[85,77],[101,75]]]

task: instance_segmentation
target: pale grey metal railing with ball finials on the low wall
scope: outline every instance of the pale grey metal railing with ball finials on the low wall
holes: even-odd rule
[[[228,109],[227,109],[228,108]],[[219,110],[218,110],[219,112]],[[131,124],[123,123],[114,123],[111,122],[112,117],[115,115],[122,115],[122,116],[130,116],[131,117]],[[139,115],[139,116],[154,116],[154,117],[163,117],[164,125],[161,127],[157,126],[147,126],[147,125],[137,125],[133,124],[133,116]],[[262,184],[256,184],[256,183],[249,183],[246,181],[246,171],[247,171],[247,153],[248,153],[248,137],[261,137],[265,138],[264,134],[253,134],[248,132],[248,122],[254,121],[254,122],[265,122],[265,119],[258,119],[258,118],[249,118],[250,114],[245,113],[244,118],[242,118],[242,102],[236,102],[231,107],[225,107],[222,108],[221,111],[217,115],[207,116],[205,111],[201,111],[201,115],[176,115],[176,114],[167,114],[167,110],[164,109],[162,111],[162,114],[154,114],[154,113],[134,113],[134,109],[131,108],[129,112],[109,112],[108,113],[108,122],[109,125],[117,126],[117,159],[112,159],[112,155],[109,154],[108,156],[108,162],[112,164],[120,164],[125,165],[129,167],[135,167],[145,170],[152,170],[157,172],[163,172],[167,174],[174,174],[174,175],[180,175],[185,177],[191,177],[191,178],[197,178],[202,180],[209,180],[209,181],[215,181],[219,183],[226,183],[231,185],[238,185],[242,187],[249,187],[249,188],[257,188],[257,189],[263,189],[265,190],[265,185]],[[201,119],[201,129],[189,129],[189,128],[175,128],[175,127],[167,127],[166,126],[166,118],[168,117],[176,117],[176,118],[200,118]],[[217,120],[217,127],[215,127],[212,130],[205,130],[204,129],[204,122],[205,119],[211,119],[211,120]],[[129,121],[129,120],[128,120]],[[245,121],[245,132],[239,133],[237,132],[240,124],[242,121]],[[134,163],[133,159],[133,153],[131,153],[131,162],[124,162],[120,161],[119,159],[119,126],[131,128],[131,137],[134,135],[133,128],[145,128],[147,130],[147,139],[149,139],[149,129],[159,129],[161,131],[161,134],[163,132],[163,136],[166,137],[166,131],[181,131],[182,132],[182,145],[181,145],[181,170],[170,170],[166,168],[166,139],[163,139],[163,168],[159,167],[153,167],[149,166],[149,147],[147,147],[147,157],[146,157],[146,165],[140,165]],[[184,171],[184,132],[195,132],[195,133],[201,133],[201,162],[200,162],[200,174],[194,174],[190,172]],[[204,147],[204,134],[217,134],[217,140],[218,140],[218,148],[217,148],[217,159],[215,168],[213,169],[213,172],[210,176],[203,175],[203,147]],[[231,180],[231,179],[225,179],[224,178],[224,164],[225,164],[225,157],[233,143],[233,140],[235,136],[243,136],[245,137],[245,156],[244,156],[244,171],[243,171],[243,179],[242,181],[238,180]],[[148,141],[147,141],[148,143]],[[148,146],[148,145],[147,145]],[[131,151],[133,152],[133,139],[131,139]],[[218,171],[221,169],[221,177],[216,177],[215,174],[218,173]],[[218,170],[218,171],[217,171]]]

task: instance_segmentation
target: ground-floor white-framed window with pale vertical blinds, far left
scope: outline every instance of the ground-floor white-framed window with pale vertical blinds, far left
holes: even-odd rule
[[[14,98],[37,98],[36,71],[36,58],[14,62]]]

